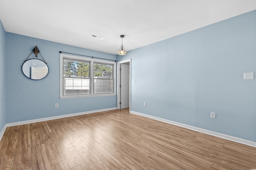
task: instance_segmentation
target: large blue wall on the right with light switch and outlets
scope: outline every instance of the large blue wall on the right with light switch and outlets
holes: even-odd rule
[[[243,80],[256,73],[255,10],[118,56],[126,59],[131,111],[256,142],[256,80]]]

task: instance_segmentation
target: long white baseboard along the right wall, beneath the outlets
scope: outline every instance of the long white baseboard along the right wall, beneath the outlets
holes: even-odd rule
[[[135,114],[135,115],[140,115],[140,116],[143,116],[143,117],[148,117],[150,119],[162,121],[162,122],[169,123],[169,124],[172,124],[172,125],[176,125],[176,126],[179,126],[179,127],[184,127],[186,129],[190,129],[190,130],[193,130],[193,131],[198,131],[198,132],[205,133],[205,134],[208,134],[208,135],[212,135],[212,136],[215,136],[215,137],[220,137],[222,139],[227,139],[229,141],[241,143],[241,144],[248,145],[248,146],[256,148],[256,142],[253,142],[253,141],[248,141],[248,140],[241,139],[241,138],[238,138],[238,137],[233,137],[233,136],[225,135],[225,134],[222,134],[222,133],[217,133],[217,132],[214,132],[214,131],[209,131],[209,130],[206,130],[206,129],[201,129],[201,128],[198,128],[198,127],[178,123],[178,122],[175,122],[175,121],[170,121],[170,120],[167,120],[167,119],[162,119],[162,118],[151,116],[151,115],[146,115],[144,113],[138,113],[136,111],[131,111],[130,113]]]

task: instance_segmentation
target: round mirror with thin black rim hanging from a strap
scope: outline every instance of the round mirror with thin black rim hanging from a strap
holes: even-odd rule
[[[42,60],[29,59],[22,65],[23,74],[32,80],[45,78],[49,72],[48,66]]]

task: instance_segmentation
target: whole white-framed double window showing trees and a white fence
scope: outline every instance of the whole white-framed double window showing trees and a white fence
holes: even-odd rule
[[[116,95],[116,63],[60,54],[60,98]]]

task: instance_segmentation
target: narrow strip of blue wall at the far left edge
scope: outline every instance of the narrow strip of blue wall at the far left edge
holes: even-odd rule
[[[5,125],[5,42],[6,32],[0,20],[0,132]]]

